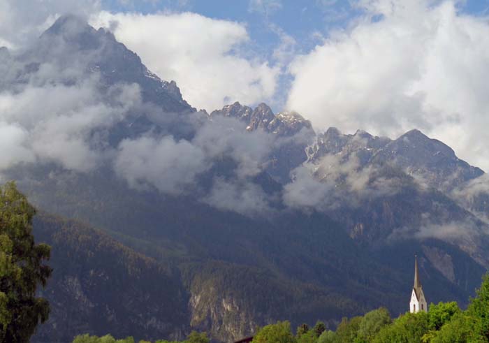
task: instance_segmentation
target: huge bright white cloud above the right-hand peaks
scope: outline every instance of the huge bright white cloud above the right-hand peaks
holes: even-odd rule
[[[412,128],[489,170],[489,24],[451,1],[360,1],[365,15],[289,70],[287,107],[314,126],[396,136]]]

